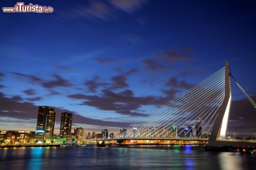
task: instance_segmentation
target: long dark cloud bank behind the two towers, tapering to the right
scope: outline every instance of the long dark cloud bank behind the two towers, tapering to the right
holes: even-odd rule
[[[35,106],[31,102],[20,102],[22,98],[20,96],[14,96],[12,98],[6,97],[0,92],[0,120],[4,118],[9,118],[9,123],[19,124],[21,120],[31,120],[34,123],[34,129],[36,129],[36,121],[38,114],[38,106]],[[55,123],[60,122],[61,113],[69,112],[73,113],[73,124],[87,124],[87,125],[98,125],[98,126],[111,126],[111,127],[128,127],[130,123],[128,122],[118,122],[118,121],[103,121],[98,119],[91,119],[83,117],[74,111],[69,111],[68,109],[53,107],[56,112]],[[14,118],[14,119],[10,119]],[[55,127],[55,129],[58,127]]]

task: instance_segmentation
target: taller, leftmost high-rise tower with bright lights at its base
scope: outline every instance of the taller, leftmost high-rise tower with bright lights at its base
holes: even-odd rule
[[[50,143],[54,131],[54,108],[39,106],[35,139],[38,142]]]

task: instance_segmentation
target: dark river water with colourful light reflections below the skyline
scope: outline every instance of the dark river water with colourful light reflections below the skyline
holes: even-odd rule
[[[0,170],[255,170],[256,152],[204,146],[0,148]]]

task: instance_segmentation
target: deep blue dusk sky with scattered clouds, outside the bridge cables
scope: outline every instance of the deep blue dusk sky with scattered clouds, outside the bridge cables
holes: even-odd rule
[[[14,7],[20,1],[1,1]],[[256,101],[256,1],[22,1],[0,13],[0,130],[36,130],[38,106],[116,135],[228,61]],[[254,136],[256,109],[231,80],[228,132]],[[242,127],[242,128],[241,128]]]

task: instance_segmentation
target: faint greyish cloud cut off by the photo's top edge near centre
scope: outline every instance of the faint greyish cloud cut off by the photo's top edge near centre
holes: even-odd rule
[[[110,0],[109,2],[119,10],[133,13],[141,9],[147,0]]]

